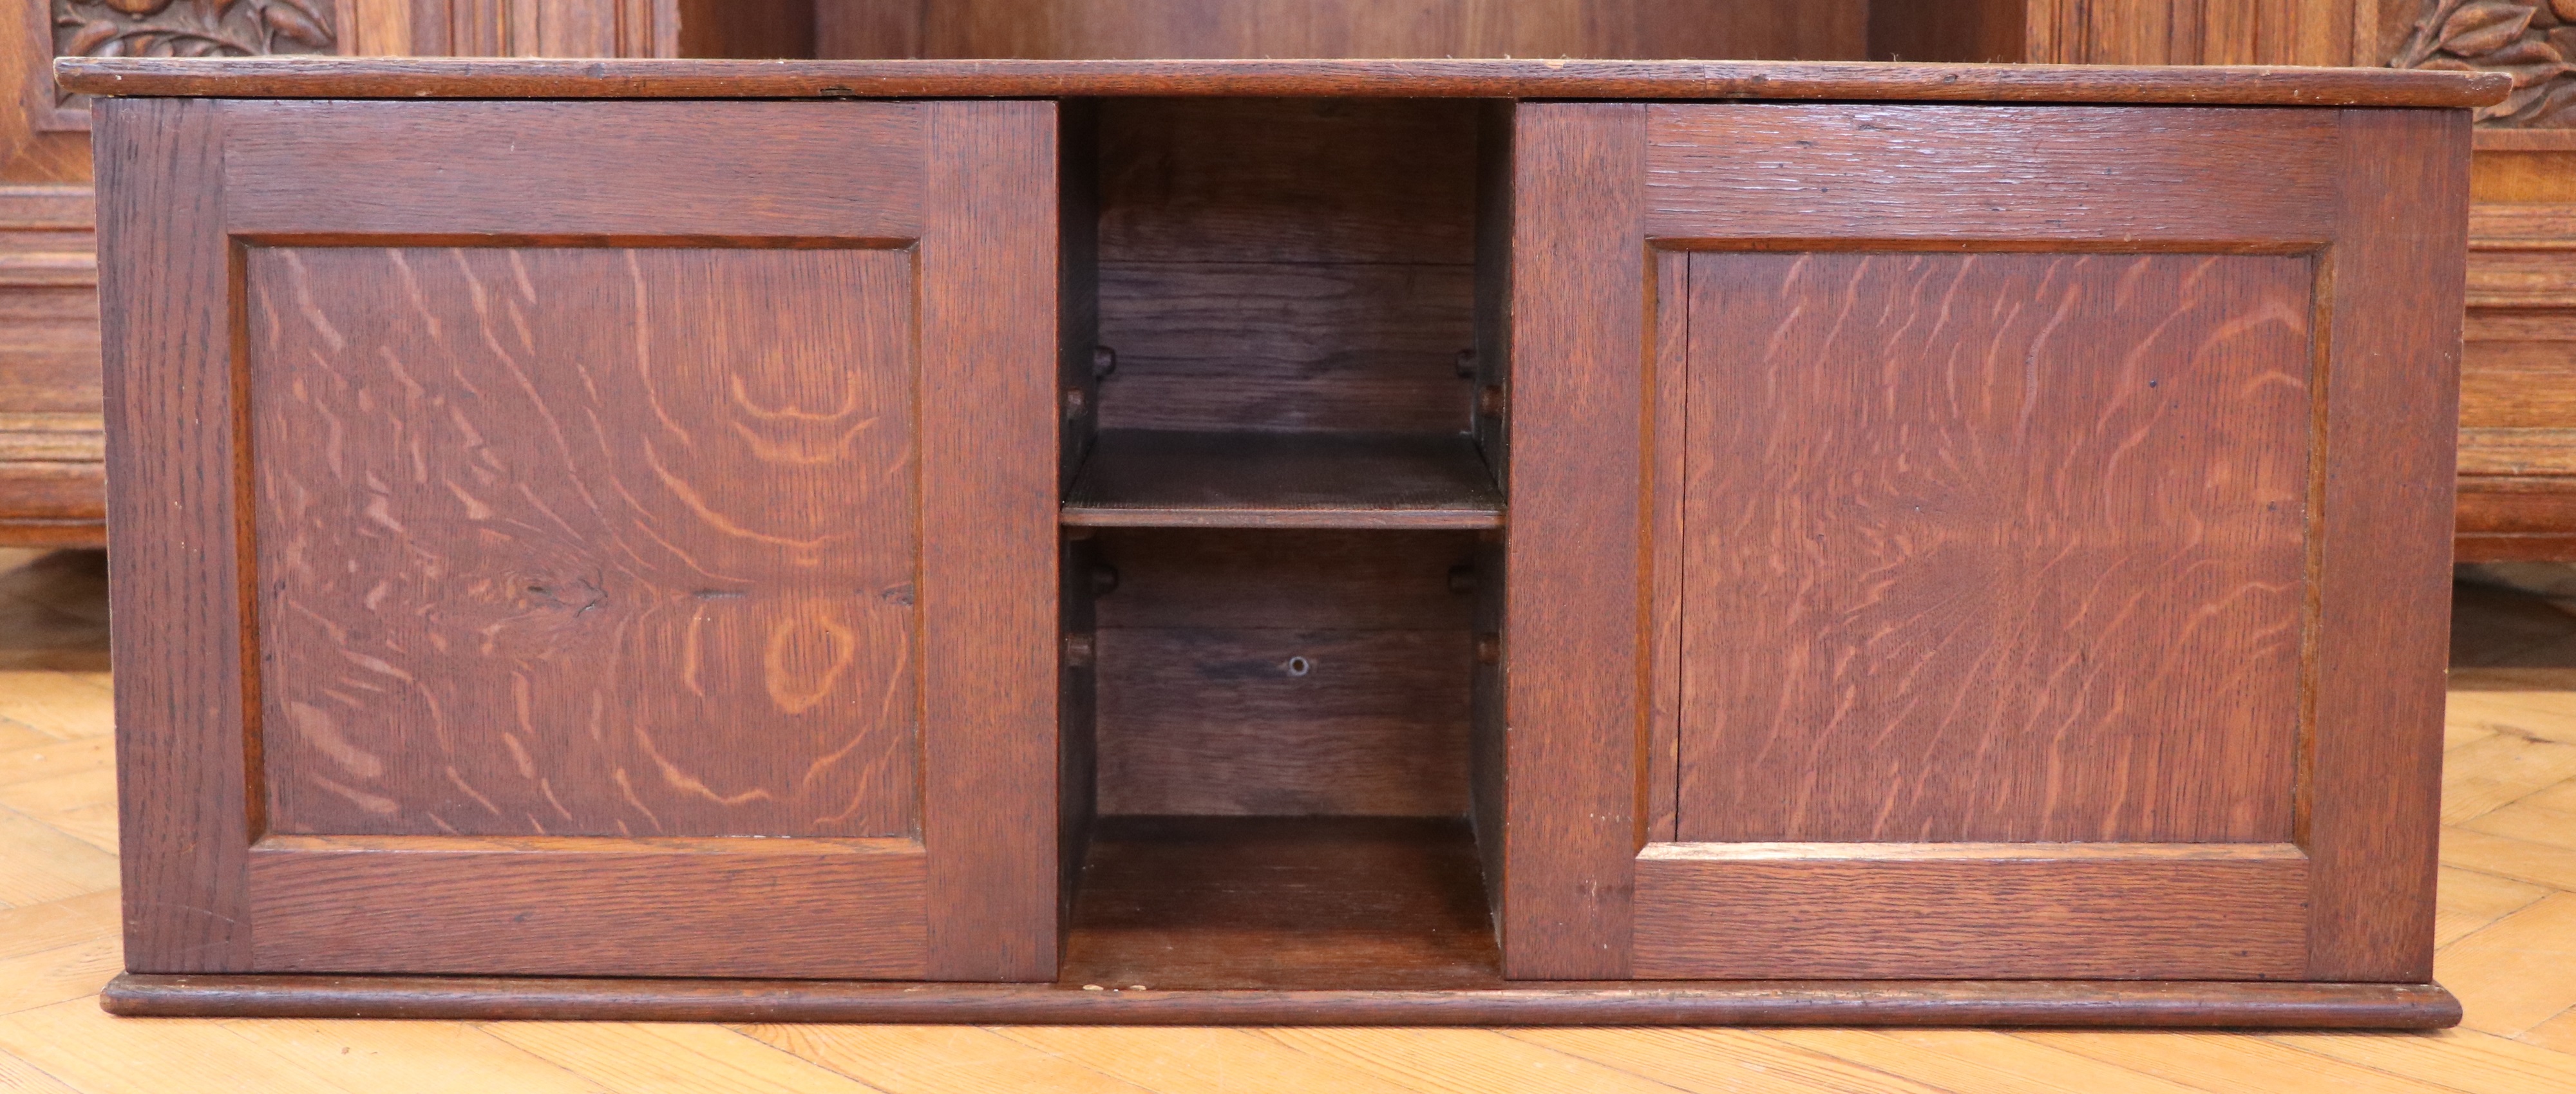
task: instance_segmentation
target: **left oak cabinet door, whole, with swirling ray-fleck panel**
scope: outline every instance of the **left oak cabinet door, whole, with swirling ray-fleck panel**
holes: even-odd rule
[[[1054,976],[1051,103],[103,111],[129,968]]]

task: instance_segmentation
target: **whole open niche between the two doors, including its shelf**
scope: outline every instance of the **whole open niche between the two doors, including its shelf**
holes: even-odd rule
[[[1499,983],[1492,111],[1069,108],[1069,986]]]

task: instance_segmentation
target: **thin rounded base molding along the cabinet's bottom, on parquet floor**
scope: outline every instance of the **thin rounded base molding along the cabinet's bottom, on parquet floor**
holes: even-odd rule
[[[410,1017],[961,1024],[2022,1024],[2442,1030],[2439,983],[1664,981],[1450,991],[1133,991],[1074,983],[157,976],[100,994],[126,1017]]]

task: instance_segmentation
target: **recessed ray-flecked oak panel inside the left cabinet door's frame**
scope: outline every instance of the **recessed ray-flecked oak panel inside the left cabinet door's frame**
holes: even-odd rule
[[[902,250],[258,247],[268,829],[914,829]]]

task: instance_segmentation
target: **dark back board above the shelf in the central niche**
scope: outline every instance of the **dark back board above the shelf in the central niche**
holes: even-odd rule
[[[1100,103],[1103,430],[1458,432],[1476,106]]]

